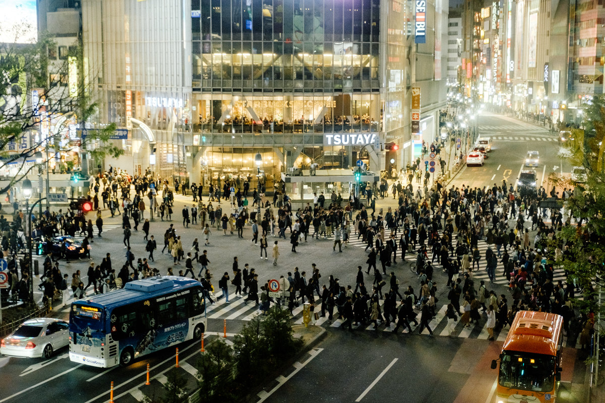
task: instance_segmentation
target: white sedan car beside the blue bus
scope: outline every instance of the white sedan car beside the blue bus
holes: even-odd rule
[[[54,350],[69,343],[70,325],[60,319],[26,320],[0,341],[0,354],[13,357],[50,358]]]

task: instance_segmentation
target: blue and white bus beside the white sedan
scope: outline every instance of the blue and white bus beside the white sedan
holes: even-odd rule
[[[200,339],[206,292],[186,277],[149,277],[71,303],[70,359],[94,367],[126,366],[139,356]]]

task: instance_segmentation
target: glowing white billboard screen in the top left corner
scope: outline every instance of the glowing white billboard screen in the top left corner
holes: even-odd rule
[[[38,41],[36,0],[0,0],[0,10],[0,42],[33,44]]]

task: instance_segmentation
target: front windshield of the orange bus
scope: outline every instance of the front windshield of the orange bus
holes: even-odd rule
[[[550,392],[555,382],[555,357],[505,351],[498,383],[503,387],[534,392]]]

